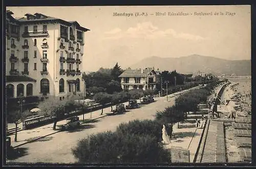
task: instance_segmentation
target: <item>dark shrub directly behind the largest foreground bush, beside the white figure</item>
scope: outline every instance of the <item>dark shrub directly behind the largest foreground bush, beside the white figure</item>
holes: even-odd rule
[[[156,137],[158,141],[162,140],[163,123],[156,120],[134,120],[128,123],[121,123],[117,127],[117,133],[120,134],[136,134],[136,135],[151,135]],[[170,130],[166,127],[167,132]]]

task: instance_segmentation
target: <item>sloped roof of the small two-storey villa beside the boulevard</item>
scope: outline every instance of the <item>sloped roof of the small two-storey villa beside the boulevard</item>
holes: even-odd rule
[[[118,77],[146,77],[148,74],[153,73],[156,74],[154,69],[126,69],[121,75]]]

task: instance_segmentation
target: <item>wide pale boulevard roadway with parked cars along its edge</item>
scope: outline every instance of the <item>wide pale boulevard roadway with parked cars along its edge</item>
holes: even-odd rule
[[[37,140],[33,143],[18,147],[25,151],[22,157],[7,162],[45,162],[45,163],[73,163],[77,159],[72,154],[71,149],[76,146],[77,141],[90,134],[107,130],[115,131],[120,123],[129,122],[135,119],[154,119],[157,110],[163,110],[167,106],[174,104],[175,97],[156,98],[156,102],[144,105],[138,109],[127,110],[125,114],[106,116],[95,123],[83,124],[79,129],[69,132],[63,131],[48,137]],[[161,130],[161,129],[159,129]]]

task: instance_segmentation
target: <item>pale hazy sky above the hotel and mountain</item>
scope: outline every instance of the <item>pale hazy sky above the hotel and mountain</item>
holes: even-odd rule
[[[7,10],[16,18],[37,12],[76,20],[89,29],[84,34],[83,71],[112,68],[117,62],[126,69],[153,56],[179,58],[199,54],[227,60],[251,59],[250,6],[7,7]],[[183,15],[170,15],[178,12]],[[133,16],[114,16],[114,13]],[[136,13],[140,16],[135,16]],[[206,13],[211,15],[203,15]]]

